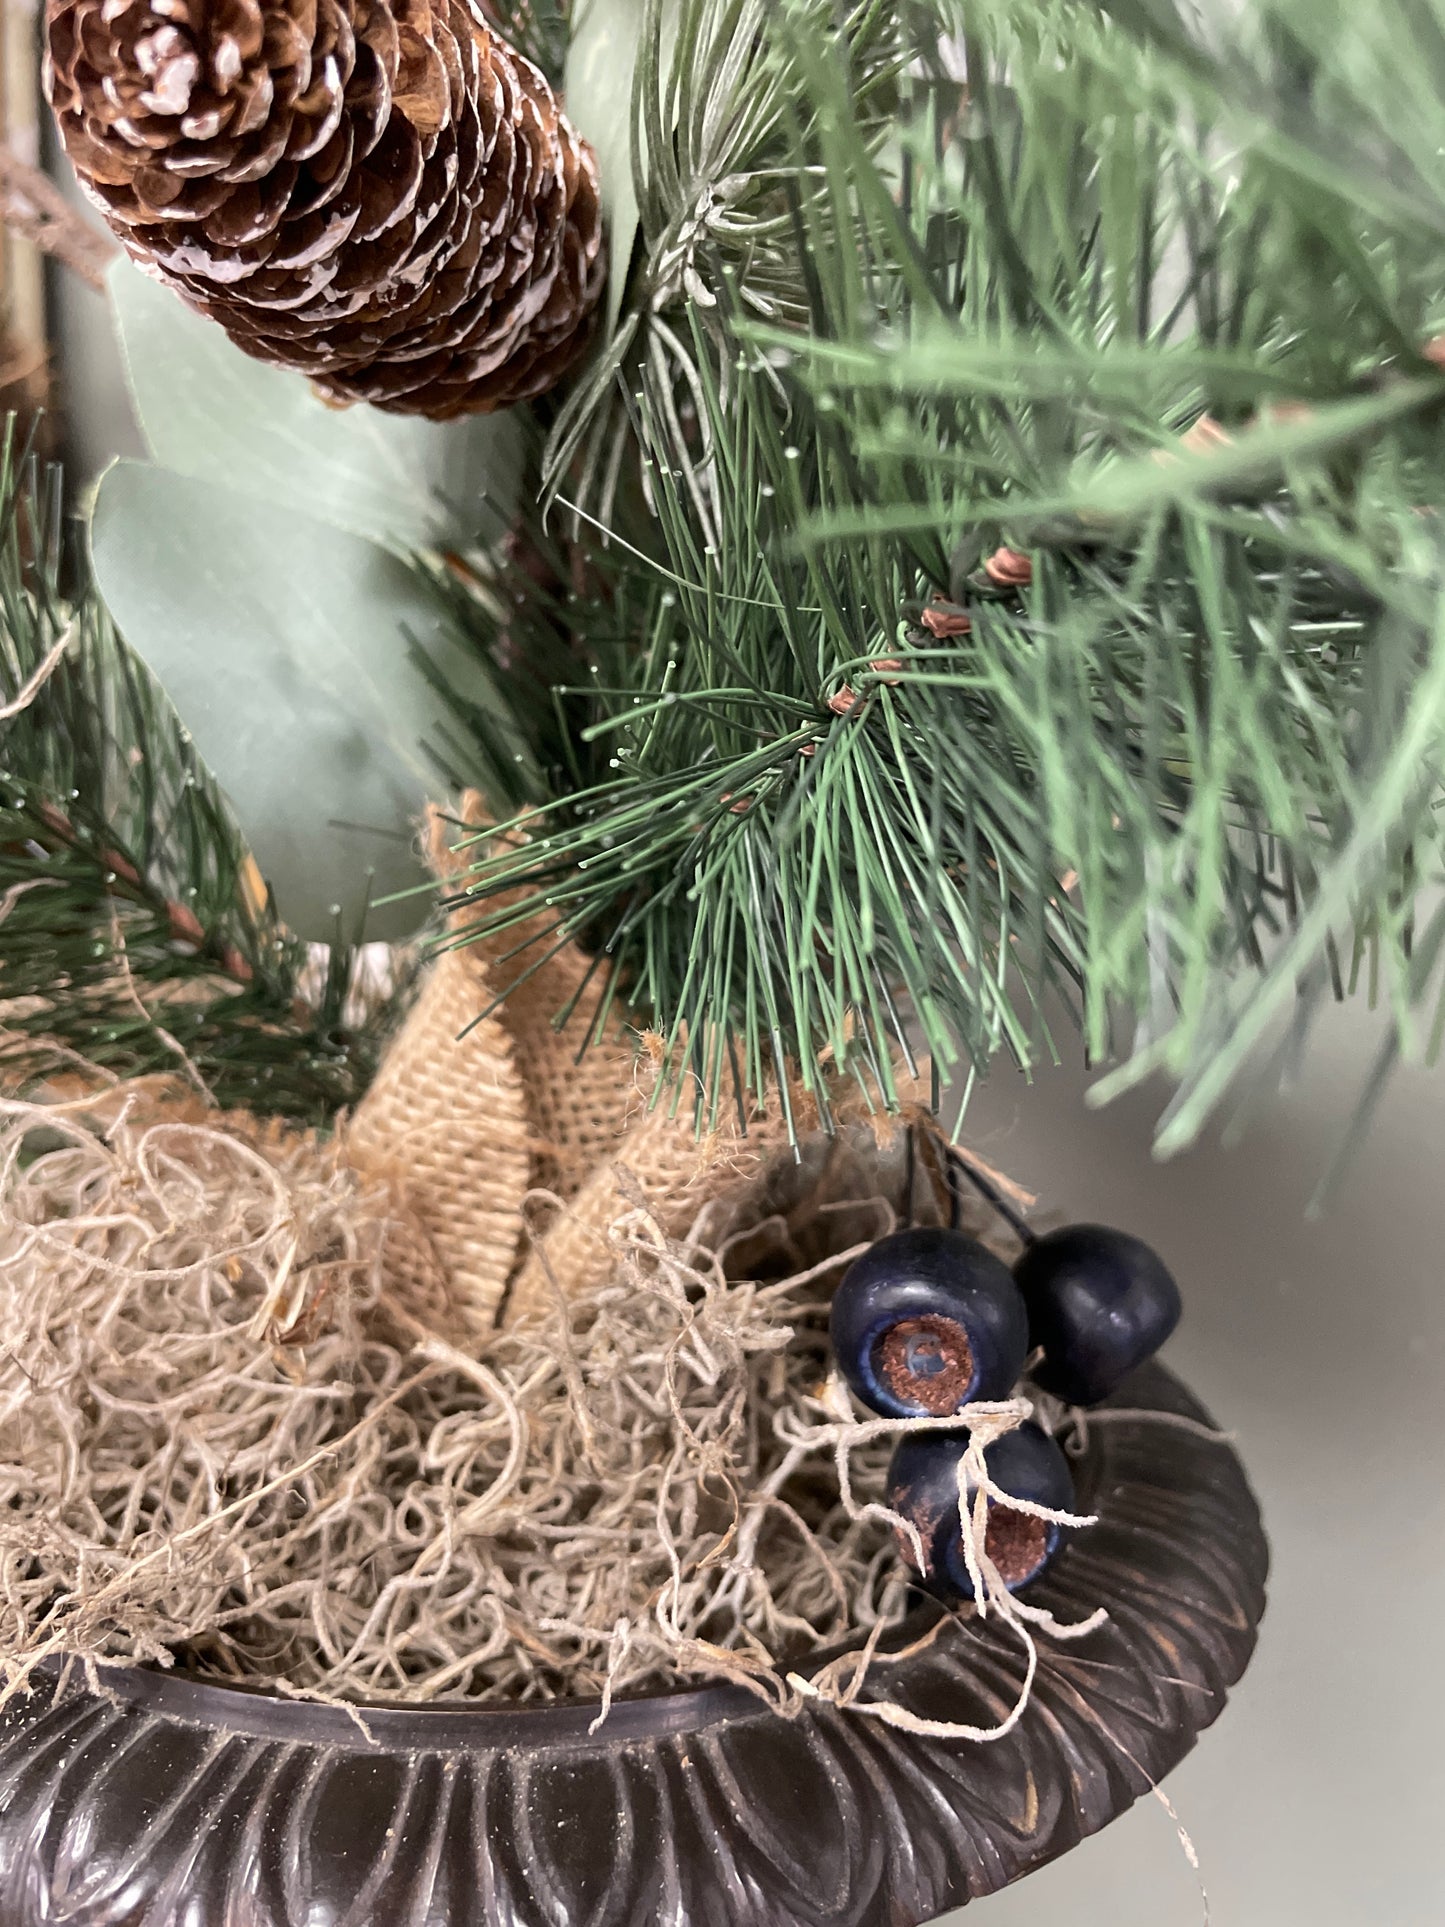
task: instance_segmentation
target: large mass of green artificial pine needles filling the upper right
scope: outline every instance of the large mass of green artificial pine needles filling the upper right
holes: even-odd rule
[[[1181,1143],[1343,958],[1430,1027],[1441,183],[1366,58],[1414,6],[1266,0],[1241,56],[1110,12],[686,0],[638,66],[645,251],[553,441],[611,528],[586,671],[472,886],[605,944],[713,1093],[886,1095],[907,1006],[967,1089],[1062,990],[1094,1052],[1133,1014]],[[688,208],[736,220],[678,266]]]

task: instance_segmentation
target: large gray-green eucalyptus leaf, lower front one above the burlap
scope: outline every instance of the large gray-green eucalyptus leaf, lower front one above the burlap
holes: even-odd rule
[[[457,707],[491,684],[426,584],[376,541],[144,462],[100,480],[96,584],[227,792],[285,921],[351,933],[422,883],[414,825],[447,786]],[[405,937],[426,898],[366,913]]]

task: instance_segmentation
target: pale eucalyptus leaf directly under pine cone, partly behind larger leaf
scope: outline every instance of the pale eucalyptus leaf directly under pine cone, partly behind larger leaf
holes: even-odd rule
[[[108,283],[135,409],[162,466],[395,549],[495,538],[511,518],[522,470],[514,416],[424,422],[333,409],[304,376],[243,355],[125,256]]]

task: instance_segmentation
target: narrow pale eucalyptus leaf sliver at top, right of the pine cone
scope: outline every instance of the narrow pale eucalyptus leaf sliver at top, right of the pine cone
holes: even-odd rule
[[[638,185],[634,179],[632,85],[647,21],[647,0],[578,0],[566,50],[563,92],[566,116],[597,152],[611,279],[607,333],[622,312],[632,245],[638,237]],[[678,35],[678,0],[661,0],[661,75]]]

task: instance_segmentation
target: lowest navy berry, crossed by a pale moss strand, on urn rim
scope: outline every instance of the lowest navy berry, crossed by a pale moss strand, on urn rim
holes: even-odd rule
[[[919,1584],[942,1599],[973,1597],[958,1517],[958,1465],[967,1443],[967,1432],[911,1432],[898,1441],[888,1466],[888,1505],[911,1520],[923,1540],[927,1571]],[[1038,1426],[1023,1424],[1006,1432],[985,1451],[985,1465],[988,1478],[1013,1497],[1046,1505],[1054,1513],[1073,1511],[1069,1461]],[[1062,1540],[1064,1526],[1054,1520],[988,1499],[985,1551],[1010,1592],[1038,1578]],[[900,1532],[898,1544],[906,1563],[917,1572],[913,1542]]]

